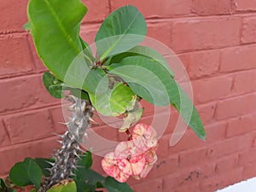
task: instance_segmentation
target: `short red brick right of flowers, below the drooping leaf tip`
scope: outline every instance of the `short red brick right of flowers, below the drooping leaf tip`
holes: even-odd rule
[[[179,154],[180,166],[199,166],[207,161],[207,149],[200,148],[181,152]]]

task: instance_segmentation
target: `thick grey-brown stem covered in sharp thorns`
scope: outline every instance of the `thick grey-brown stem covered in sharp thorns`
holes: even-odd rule
[[[46,192],[55,184],[73,176],[73,169],[79,160],[79,144],[83,142],[85,131],[90,126],[93,114],[90,102],[75,96],[67,96],[67,100],[72,102],[69,108],[72,117],[67,123],[68,131],[61,136],[61,148],[53,155],[55,162],[49,169],[50,176],[45,178],[38,192]]]

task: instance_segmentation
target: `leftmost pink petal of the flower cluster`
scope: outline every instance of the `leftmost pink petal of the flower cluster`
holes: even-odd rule
[[[105,155],[102,160],[102,169],[111,177],[117,177],[119,175],[119,168],[117,166],[117,161],[113,158],[113,152]]]

